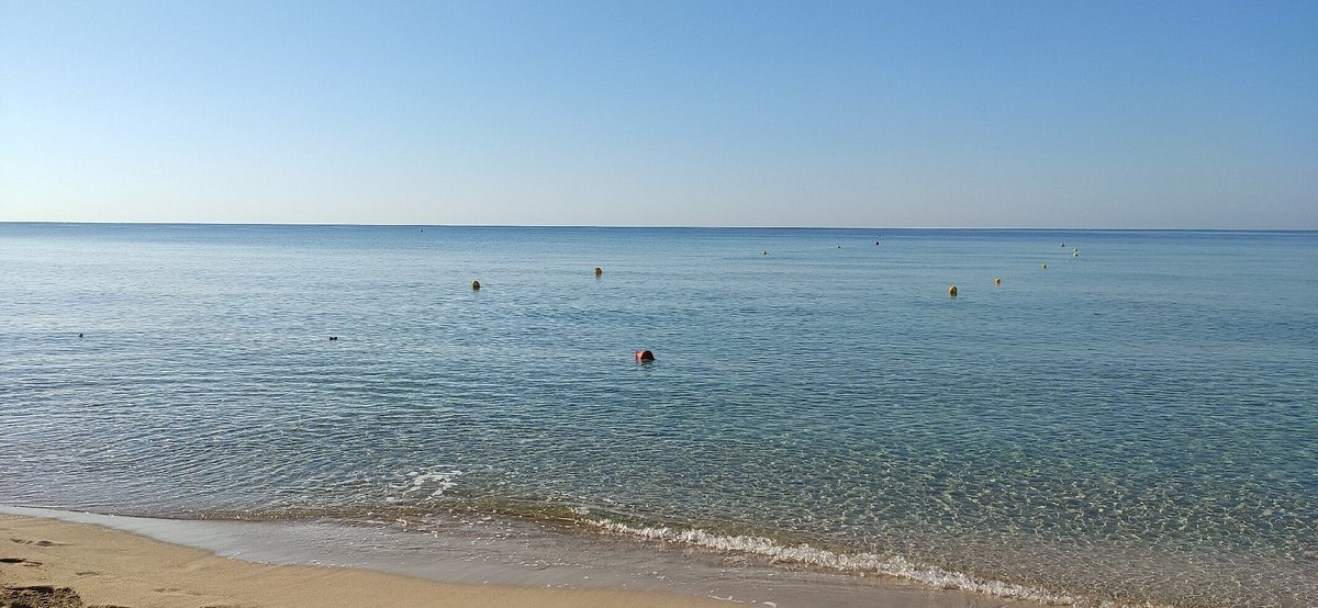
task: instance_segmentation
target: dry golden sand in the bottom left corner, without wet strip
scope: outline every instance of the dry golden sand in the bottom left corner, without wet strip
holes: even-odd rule
[[[728,605],[652,592],[464,586],[261,565],[95,525],[0,515],[0,608]]]

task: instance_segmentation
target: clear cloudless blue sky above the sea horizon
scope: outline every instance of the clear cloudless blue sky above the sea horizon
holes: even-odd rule
[[[0,0],[0,221],[1318,229],[1318,3]]]

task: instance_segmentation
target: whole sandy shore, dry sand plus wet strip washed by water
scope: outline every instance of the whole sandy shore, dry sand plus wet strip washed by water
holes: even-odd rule
[[[757,565],[699,547],[485,524],[416,533],[324,520],[161,520],[0,507],[0,588],[69,587],[86,605],[196,608],[1041,605],[888,576]]]

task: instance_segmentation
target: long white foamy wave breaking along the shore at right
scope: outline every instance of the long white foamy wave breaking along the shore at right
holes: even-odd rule
[[[917,583],[988,594],[998,597],[1039,601],[1062,605],[1155,607],[1156,604],[1127,604],[1110,600],[1091,600],[1065,592],[1054,592],[1040,587],[1028,587],[1003,580],[986,580],[965,572],[956,572],[936,566],[921,566],[900,555],[883,557],[874,553],[846,554],[813,547],[808,544],[784,546],[770,538],[757,536],[721,536],[701,529],[680,529],[668,526],[633,526],[609,519],[589,520],[592,524],[613,533],[634,536],[651,541],[679,542],[720,551],[741,551],[763,555],[776,562],[792,562],[846,572],[879,572]]]

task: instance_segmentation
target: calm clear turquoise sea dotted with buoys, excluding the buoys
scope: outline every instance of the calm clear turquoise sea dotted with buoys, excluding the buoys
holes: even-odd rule
[[[0,504],[1318,605],[1315,233],[0,224]]]

